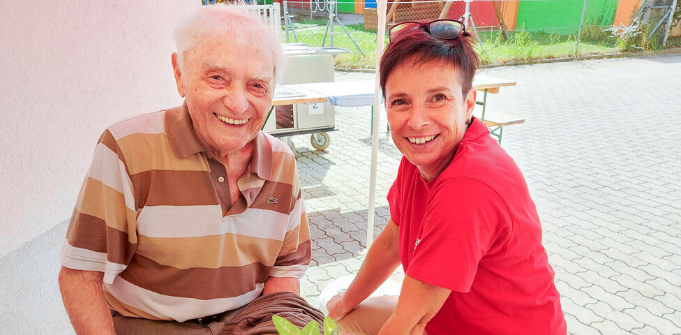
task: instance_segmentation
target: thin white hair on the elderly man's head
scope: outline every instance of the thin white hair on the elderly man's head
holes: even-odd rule
[[[202,6],[179,24],[174,40],[179,67],[183,71],[187,54],[202,47],[197,45],[199,40],[206,44],[227,41],[237,48],[254,47],[257,54],[270,56],[274,61],[274,82],[283,66],[280,32],[265,24],[246,6]]]

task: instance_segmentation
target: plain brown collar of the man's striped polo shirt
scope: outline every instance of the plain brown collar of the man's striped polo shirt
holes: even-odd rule
[[[186,103],[165,111],[165,132],[175,156],[188,158],[202,151],[204,154],[208,154],[207,149],[196,136]],[[253,149],[253,158],[251,158],[250,164],[246,168],[246,175],[255,173],[261,179],[271,180],[272,145],[267,138],[267,134],[262,131],[257,133],[254,140],[255,149]]]

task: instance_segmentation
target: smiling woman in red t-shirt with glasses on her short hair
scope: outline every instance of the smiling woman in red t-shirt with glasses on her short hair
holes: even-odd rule
[[[389,34],[380,79],[404,154],[391,220],[329,316],[361,334],[566,334],[523,174],[472,117],[470,34],[455,20],[404,22]],[[396,304],[365,301],[400,263]]]

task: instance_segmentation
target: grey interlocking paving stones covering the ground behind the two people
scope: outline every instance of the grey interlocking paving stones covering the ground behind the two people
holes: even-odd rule
[[[681,334],[681,54],[481,72],[518,82],[488,106],[526,120],[504,131],[502,147],[537,204],[568,332]],[[313,245],[301,290],[322,309],[320,291],[361,265],[370,114],[336,108],[339,130],[325,151],[309,135],[292,139]],[[384,114],[380,129],[374,235],[389,220],[401,158]]]

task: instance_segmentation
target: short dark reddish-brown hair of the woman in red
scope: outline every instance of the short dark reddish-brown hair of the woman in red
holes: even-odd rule
[[[380,63],[381,90],[385,96],[385,82],[398,65],[415,58],[416,64],[442,60],[458,68],[461,73],[462,94],[465,96],[473,84],[475,70],[480,66],[480,57],[473,50],[471,35],[461,31],[454,40],[435,38],[423,28],[401,32],[399,40],[391,42],[385,49]]]

